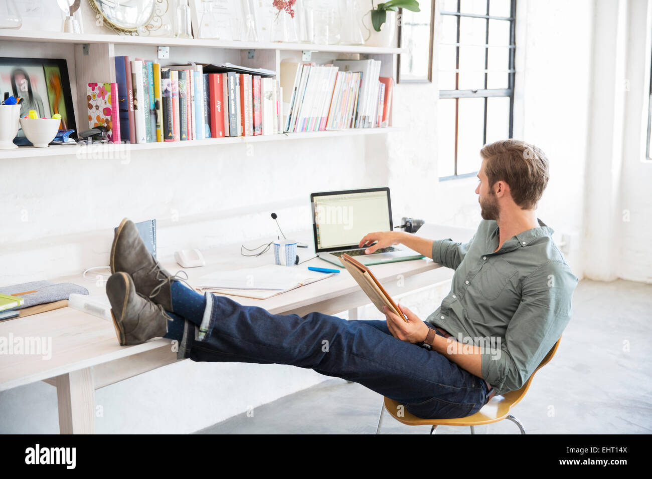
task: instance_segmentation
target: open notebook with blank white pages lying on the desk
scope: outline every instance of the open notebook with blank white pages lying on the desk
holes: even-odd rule
[[[265,265],[205,274],[199,278],[197,285],[201,292],[266,299],[325,280],[334,274],[310,271],[304,267]]]

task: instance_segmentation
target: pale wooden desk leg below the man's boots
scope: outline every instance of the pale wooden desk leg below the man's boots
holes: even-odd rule
[[[95,382],[93,370],[85,368],[57,376],[59,432],[95,434]]]

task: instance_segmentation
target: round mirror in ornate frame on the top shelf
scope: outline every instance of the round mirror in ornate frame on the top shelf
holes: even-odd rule
[[[91,7],[110,29],[119,33],[136,33],[149,23],[155,0],[89,0]]]

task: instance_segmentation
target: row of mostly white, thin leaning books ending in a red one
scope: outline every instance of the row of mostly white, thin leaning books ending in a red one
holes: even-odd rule
[[[380,66],[373,59],[282,63],[284,131],[389,126],[394,79],[381,77]]]

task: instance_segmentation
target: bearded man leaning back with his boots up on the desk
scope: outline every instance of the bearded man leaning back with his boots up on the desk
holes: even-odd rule
[[[485,145],[478,173],[482,222],[467,243],[369,233],[367,252],[405,244],[455,270],[451,292],[426,321],[347,321],[318,312],[274,315],[201,295],[160,267],[123,220],[111,247],[106,293],[121,345],[164,336],[179,358],[291,364],[355,381],[422,418],[479,411],[519,389],[571,317],[577,278],[535,215],[548,183],[544,153],[524,141]],[[375,244],[374,244],[375,242]]]

